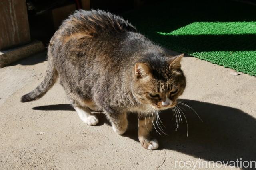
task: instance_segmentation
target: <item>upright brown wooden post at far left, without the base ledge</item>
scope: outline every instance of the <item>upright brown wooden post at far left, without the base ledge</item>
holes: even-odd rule
[[[0,49],[28,42],[26,0],[0,0]]]

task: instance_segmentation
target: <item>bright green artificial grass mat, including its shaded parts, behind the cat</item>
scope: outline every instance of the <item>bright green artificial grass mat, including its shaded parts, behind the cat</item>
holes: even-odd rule
[[[124,17],[168,49],[256,76],[256,6],[168,1]]]

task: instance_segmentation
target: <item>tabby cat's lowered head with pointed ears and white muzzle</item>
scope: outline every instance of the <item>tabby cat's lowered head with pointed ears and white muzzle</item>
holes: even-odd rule
[[[184,54],[174,57],[153,55],[144,62],[136,63],[132,82],[136,99],[160,110],[174,107],[186,87],[180,65],[183,56]]]

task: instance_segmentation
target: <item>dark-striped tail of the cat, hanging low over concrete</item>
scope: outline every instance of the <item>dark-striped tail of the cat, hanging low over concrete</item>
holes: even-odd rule
[[[41,98],[54,85],[58,78],[58,72],[52,62],[49,62],[46,73],[44,80],[32,92],[22,96],[21,102],[30,102]]]

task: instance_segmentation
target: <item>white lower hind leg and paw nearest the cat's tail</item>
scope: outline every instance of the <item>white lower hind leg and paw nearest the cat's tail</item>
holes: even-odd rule
[[[96,115],[93,115],[91,113],[91,110],[88,107],[74,106],[74,109],[76,110],[78,116],[84,123],[92,126],[97,125],[99,123],[99,119],[96,117]]]

